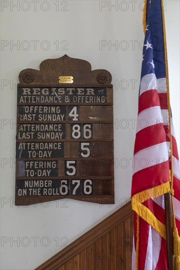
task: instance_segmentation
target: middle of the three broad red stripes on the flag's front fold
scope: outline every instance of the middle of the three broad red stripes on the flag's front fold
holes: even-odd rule
[[[136,134],[134,155],[142,149],[165,141],[167,137],[162,123],[147,127]]]

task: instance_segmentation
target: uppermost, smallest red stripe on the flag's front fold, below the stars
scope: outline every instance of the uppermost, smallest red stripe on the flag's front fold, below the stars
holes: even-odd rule
[[[138,114],[150,107],[160,106],[159,96],[156,89],[148,90],[141,94],[139,98]]]

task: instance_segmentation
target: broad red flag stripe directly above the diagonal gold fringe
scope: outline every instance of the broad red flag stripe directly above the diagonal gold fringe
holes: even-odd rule
[[[132,177],[131,196],[169,182],[169,161],[136,172]]]

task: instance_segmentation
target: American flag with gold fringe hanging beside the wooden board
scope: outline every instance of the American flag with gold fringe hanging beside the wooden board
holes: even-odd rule
[[[146,33],[131,189],[132,208],[135,211],[136,269],[166,270],[168,262],[163,194],[173,193],[174,189],[174,213],[180,236],[180,162],[172,115],[169,117],[162,0],[145,1],[145,16]],[[172,171],[173,187],[170,183]],[[135,269],[133,264],[132,269]]]

